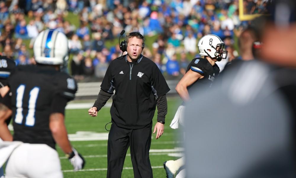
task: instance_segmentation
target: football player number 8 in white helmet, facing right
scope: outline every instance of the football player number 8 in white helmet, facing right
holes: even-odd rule
[[[226,59],[227,57],[227,51],[223,50],[224,43],[216,35],[208,34],[203,36],[197,45],[201,57],[194,58],[190,62],[185,75],[176,86],[176,91],[182,98],[183,103],[178,108],[178,111],[170,124],[170,127],[174,129],[178,128],[179,123],[184,126],[184,105],[190,100],[190,95],[201,88],[211,87],[215,77],[217,77],[220,72],[220,69],[215,62]],[[163,164],[167,177],[172,178],[180,167],[184,165],[184,158],[182,157],[176,161],[165,161]],[[181,170],[176,177],[185,177],[184,170]]]

